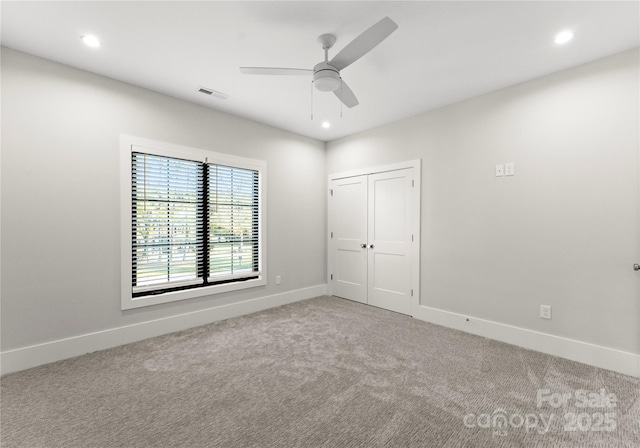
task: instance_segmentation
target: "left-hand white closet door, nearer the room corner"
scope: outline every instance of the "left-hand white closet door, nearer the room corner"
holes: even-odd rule
[[[367,176],[332,182],[333,294],[367,303]]]

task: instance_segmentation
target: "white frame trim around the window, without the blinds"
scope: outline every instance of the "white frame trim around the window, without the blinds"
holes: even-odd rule
[[[131,253],[131,153],[133,151],[165,157],[175,157],[195,161],[208,162],[237,168],[258,171],[258,270],[255,279],[203,286],[200,288],[169,291],[162,294],[133,297],[131,269],[133,265]],[[267,252],[264,236],[266,235],[266,179],[267,163],[263,160],[222,154],[205,149],[190,148],[171,143],[159,142],[129,135],[120,136],[120,283],[121,309],[128,310],[160,303],[204,297],[212,294],[238,291],[267,284],[266,263]]]

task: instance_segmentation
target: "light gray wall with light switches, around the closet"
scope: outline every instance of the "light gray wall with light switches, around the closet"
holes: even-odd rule
[[[330,142],[327,172],[423,160],[422,305],[638,353],[638,62]],[[496,178],[505,162],[516,175]]]

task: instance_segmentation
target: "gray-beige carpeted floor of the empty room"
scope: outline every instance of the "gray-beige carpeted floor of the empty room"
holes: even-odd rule
[[[320,297],[7,375],[1,441],[639,447],[639,389],[631,377]]]

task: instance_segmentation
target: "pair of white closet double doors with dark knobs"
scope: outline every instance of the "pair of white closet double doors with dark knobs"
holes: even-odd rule
[[[332,290],[411,312],[413,168],[332,182]]]

